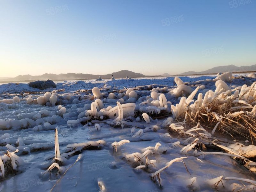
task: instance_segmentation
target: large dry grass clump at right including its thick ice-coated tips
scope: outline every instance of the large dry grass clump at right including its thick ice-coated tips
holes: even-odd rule
[[[241,91],[227,90],[225,82],[216,86],[216,91],[208,91],[204,98],[198,94],[192,104],[191,98],[181,98],[172,113],[176,120],[186,123],[200,124],[205,128],[230,134],[232,137],[243,136],[252,143],[256,142],[256,82]],[[190,104],[190,105],[189,105]]]

